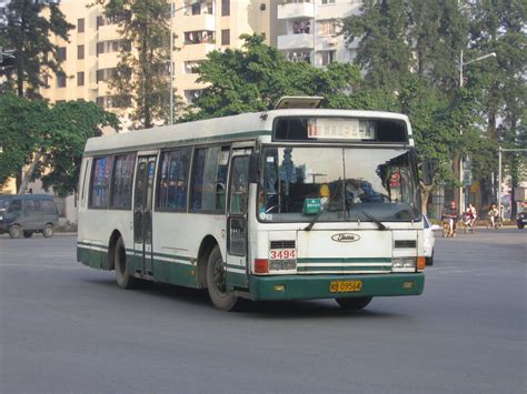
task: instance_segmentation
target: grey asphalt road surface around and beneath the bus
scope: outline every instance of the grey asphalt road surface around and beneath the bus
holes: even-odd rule
[[[215,310],[0,238],[0,393],[525,393],[527,231],[438,239],[425,293]]]

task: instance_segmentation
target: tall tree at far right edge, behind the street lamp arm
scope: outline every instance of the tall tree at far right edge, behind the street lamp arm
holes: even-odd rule
[[[468,88],[486,91],[481,100],[481,113],[486,118],[485,135],[491,154],[485,152],[476,155],[475,162],[480,170],[480,183],[485,186],[484,196],[489,203],[496,195],[490,185],[497,184],[497,145],[521,147],[521,130],[525,132],[527,4],[518,0],[480,0],[468,2],[467,6],[470,51],[479,54],[497,53],[494,61],[473,64],[466,83]],[[505,170],[511,176],[513,195],[524,165],[525,155],[505,155]],[[516,205],[511,208],[515,210]]]

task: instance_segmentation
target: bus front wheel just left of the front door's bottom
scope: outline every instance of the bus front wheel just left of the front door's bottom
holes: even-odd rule
[[[218,246],[212,249],[207,261],[207,289],[210,300],[216,307],[222,311],[232,311],[236,307],[238,297],[227,291],[223,259]]]

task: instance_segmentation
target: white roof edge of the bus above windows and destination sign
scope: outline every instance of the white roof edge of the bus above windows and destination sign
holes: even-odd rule
[[[400,113],[331,109],[284,109],[91,138],[86,144],[84,154],[93,155],[132,149],[149,150],[173,145],[175,143],[212,143],[270,137],[274,120],[278,117],[357,117],[401,120],[407,124],[408,137],[411,141],[411,128],[408,117]]]

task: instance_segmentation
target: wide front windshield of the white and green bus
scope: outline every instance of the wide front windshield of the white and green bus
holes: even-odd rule
[[[387,148],[264,149],[259,219],[270,222],[420,220],[412,151]]]

